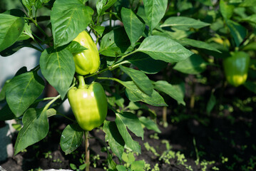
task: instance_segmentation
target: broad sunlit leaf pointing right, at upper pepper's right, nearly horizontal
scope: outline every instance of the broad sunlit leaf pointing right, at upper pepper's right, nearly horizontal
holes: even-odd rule
[[[136,51],[168,63],[183,61],[193,54],[176,41],[164,36],[148,36]]]

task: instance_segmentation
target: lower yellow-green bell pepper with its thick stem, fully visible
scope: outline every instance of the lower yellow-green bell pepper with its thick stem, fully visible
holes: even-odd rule
[[[83,130],[93,130],[106,119],[108,103],[100,83],[86,85],[83,76],[78,76],[79,86],[68,90],[68,101],[78,125]]]

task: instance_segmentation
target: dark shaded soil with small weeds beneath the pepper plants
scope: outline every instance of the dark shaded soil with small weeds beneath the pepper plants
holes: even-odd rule
[[[255,102],[252,100],[246,104],[243,103],[245,106],[242,107],[234,105],[235,101],[239,102],[239,99],[245,101],[253,94],[244,87],[227,87],[222,95],[221,103],[224,105],[219,106],[220,110],[215,108],[213,113],[207,114],[203,111],[206,108],[205,101],[209,98],[209,88],[201,88],[198,93],[197,90],[195,92],[198,99],[195,100],[194,108],[190,108],[189,105],[184,108],[170,100],[170,103],[175,105],[172,106],[173,110],[170,108],[167,110],[167,127],[163,127],[163,108],[150,107],[157,113],[156,120],[161,133],[155,134],[153,130],[145,129],[144,140],[131,134],[133,140],[141,145],[141,154],[135,155],[136,160],[144,160],[150,164],[151,170],[155,165],[158,165],[159,170],[164,171],[256,170]],[[203,98],[200,98],[202,93]],[[186,103],[189,104],[190,101]],[[233,106],[232,110],[230,106]],[[113,120],[113,114],[108,115],[107,119]],[[45,139],[28,147],[26,152],[21,152],[4,163],[0,163],[1,167],[7,171],[19,171],[39,170],[39,168],[43,170],[71,169],[71,163],[77,167],[81,165],[79,159],[84,150],[83,145],[71,155],[65,155],[59,145],[61,132],[68,124],[68,120],[52,117],[49,122],[51,128]],[[90,135],[103,141],[105,138],[101,129],[91,131]],[[169,150],[163,140],[167,140],[170,144]],[[145,142],[154,147],[155,153],[146,150]],[[103,145],[91,138],[90,148],[92,156],[99,155],[99,160],[95,161],[96,168],[91,163],[90,169],[104,170],[104,166],[107,165],[107,155],[103,151]],[[163,152],[170,152],[175,157],[159,160]],[[117,157],[113,157],[113,160],[118,162]]]

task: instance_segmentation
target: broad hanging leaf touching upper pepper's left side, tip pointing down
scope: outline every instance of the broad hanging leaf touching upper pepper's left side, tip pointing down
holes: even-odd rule
[[[46,80],[56,88],[63,99],[75,74],[75,63],[70,51],[47,48],[40,58],[41,72]]]

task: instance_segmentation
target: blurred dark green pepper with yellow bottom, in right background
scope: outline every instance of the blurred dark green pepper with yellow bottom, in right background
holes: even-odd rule
[[[250,56],[243,52],[233,52],[231,56],[223,60],[223,67],[227,82],[232,86],[240,86],[247,79]]]

